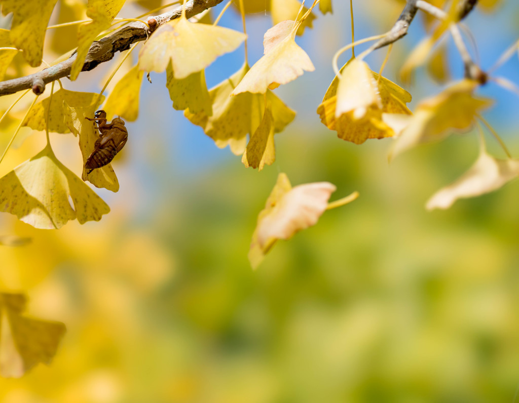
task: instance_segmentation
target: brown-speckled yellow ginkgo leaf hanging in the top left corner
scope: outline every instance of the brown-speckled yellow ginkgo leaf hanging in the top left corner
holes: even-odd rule
[[[2,0],[2,13],[13,13],[9,34],[11,42],[23,50],[23,57],[32,67],[42,63],[45,31],[57,1]]]

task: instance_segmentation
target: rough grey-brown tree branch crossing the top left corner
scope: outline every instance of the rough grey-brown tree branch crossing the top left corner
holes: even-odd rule
[[[200,12],[222,3],[222,1],[223,0],[189,0],[186,3],[186,17],[191,18],[196,16]],[[179,18],[181,13],[182,6],[177,7],[172,11],[165,12],[159,16],[149,17],[148,21],[152,19],[156,21],[156,24],[150,24],[151,30],[155,31],[160,25],[174,20],[175,18]],[[133,43],[145,40],[148,36],[149,31],[145,24],[142,22],[133,22],[122,27],[110,36],[94,41],[90,46],[85,64],[81,71],[92,70],[99,64],[112,60],[116,52],[128,50]],[[72,68],[72,63],[76,60],[76,56],[77,53],[74,52],[69,59],[54,66],[45,68],[40,72],[0,82],[0,96],[33,88],[36,84],[37,86],[35,88],[37,88],[38,91],[41,91],[42,82],[45,85],[59,78],[68,76]]]

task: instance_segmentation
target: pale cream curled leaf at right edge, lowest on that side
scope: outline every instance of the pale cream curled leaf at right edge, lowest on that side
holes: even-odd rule
[[[456,182],[436,192],[427,202],[426,209],[448,209],[458,199],[492,192],[517,176],[519,160],[498,160],[482,149],[474,165]]]

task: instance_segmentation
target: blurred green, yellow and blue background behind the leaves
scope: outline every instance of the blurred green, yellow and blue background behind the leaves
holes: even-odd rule
[[[31,315],[67,333],[50,366],[0,379],[3,403],[112,402],[513,402],[519,384],[519,184],[462,200],[448,211],[425,201],[477,156],[475,133],[419,147],[391,164],[390,140],[339,140],[315,110],[333,78],[331,58],[351,41],[349,2],[334,0],[298,43],[316,71],[276,92],[298,113],[276,135],[277,161],[261,173],[220,150],[172,109],[165,75],[143,82],[139,119],[114,163],[121,189],[98,193],[112,212],[99,223],[36,230],[0,215],[0,288],[30,297]],[[222,5],[215,11],[218,12]],[[354,1],[356,38],[385,32],[402,2]],[[143,12],[128,5],[122,16]],[[318,12],[317,12],[318,13]],[[319,14],[319,13],[318,13]],[[214,15],[214,14],[213,14]],[[57,16],[54,16],[56,19]],[[519,5],[498,2],[466,21],[484,69],[519,32]],[[241,27],[236,10],[221,22]],[[264,12],[250,16],[249,59],[260,58]],[[416,19],[394,46],[385,75],[425,35]],[[57,39],[54,39],[57,40]],[[447,40],[453,79],[461,62]],[[385,50],[367,61],[377,71]],[[349,55],[345,55],[346,59]],[[209,87],[234,73],[243,47],[209,67]],[[115,63],[67,89],[99,91]],[[519,82],[515,57],[496,75]],[[419,71],[420,99],[441,85]],[[485,117],[517,142],[517,96],[494,84]],[[13,98],[2,99],[5,109]],[[23,105],[15,113],[23,116]],[[21,117],[20,116],[20,117]],[[2,147],[16,120],[0,132]],[[22,132],[0,174],[44,144]],[[24,141],[22,141],[24,140]],[[81,170],[77,139],[52,135],[58,157]],[[497,156],[503,153],[488,137]],[[279,172],[293,185],[327,180],[360,198],[279,242],[253,272],[247,252],[257,213]]]

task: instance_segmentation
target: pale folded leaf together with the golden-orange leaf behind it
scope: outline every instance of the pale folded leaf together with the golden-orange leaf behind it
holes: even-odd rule
[[[337,135],[355,144],[368,138],[394,135],[383,114],[410,115],[405,105],[411,94],[385,77],[372,72],[367,64],[351,59],[335,77],[317,108],[321,122]]]

